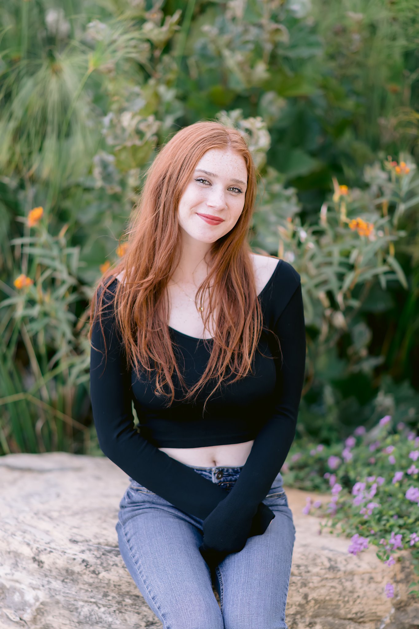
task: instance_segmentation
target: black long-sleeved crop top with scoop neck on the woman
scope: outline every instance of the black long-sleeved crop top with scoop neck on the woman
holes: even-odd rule
[[[109,288],[114,294],[117,279]],[[280,472],[295,437],[305,372],[305,321],[300,275],[279,260],[258,296],[264,319],[254,355],[254,373],[210,396],[214,381],[200,392],[196,404],[179,401],[183,392],[173,375],[175,400],[153,394],[146,373],[138,381],[127,369],[116,328],[112,299],[105,295],[107,362],[99,323],[92,328],[90,398],[99,445],[104,454],[135,481],[161,498],[204,521],[200,552],[215,566],[238,552],[246,539],[261,535],[275,518],[262,501]],[[106,301],[105,301],[106,300]],[[195,384],[209,360],[212,340],[190,337],[170,328],[173,350],[185,382]],[[273,335],[281,343],[281,352]],[[271,358],[273,356],[273,359]],[[139,420],[134,426],[132,403]],[[183,465],[159,447],[195,448],[254,440],[246,464],[231,491]]]

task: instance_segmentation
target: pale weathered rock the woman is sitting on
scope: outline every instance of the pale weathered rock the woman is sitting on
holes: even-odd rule
[[[0,458],[0,628],[161,628],[119,554],[115,524],[128,476],[105,458],[11,454]],[[386,566],[375,547],[303,515],[305,491],[286,489],[297,537],[286,607],[289,629],[415,629],[419,601],[408,551]],[[310,494],[329,501],[330,496]],[[387,599],[384,587],[395,585]],[[265,629],[255,627],[255,629]]]

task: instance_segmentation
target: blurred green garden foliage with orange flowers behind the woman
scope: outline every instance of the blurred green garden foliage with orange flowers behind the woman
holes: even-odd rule
[[[0,6],[0,453],[100,454],[87,307],[156,150],[217,119],[301,274],[295,447],[419,414],[418,12],[375,0]]]

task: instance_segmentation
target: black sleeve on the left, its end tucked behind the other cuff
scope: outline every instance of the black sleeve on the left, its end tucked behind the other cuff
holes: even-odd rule
[[[112,284],[110,289],[112,292]],[[102,326],[106,338],[106,362],[104,338],[98,321],[92,327],[90,350],[90,398],[99,445],[104,454],[135,481],[178,509],[204,520],[226,498],[228,491],[200,476],[192,467],[161,452],[136,430],[131,374],[109,293],[105,294],[104,303]],[[271,509],[261,503],[253,519],[253,534],[263,533],[272,517]]]

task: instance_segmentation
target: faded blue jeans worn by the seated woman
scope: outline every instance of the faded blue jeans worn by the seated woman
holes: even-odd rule
[[[192,467],[231,489],[242,467]],[[295,527],[278,474],[263,502],[275,513],[215,569],[202,558],[202,520],[130,478],[116,531],[129,574],[165,629],[286,629]],[[188,491],[185,487],[185,491]],[[219,594],[220,606],[212,586]]]

